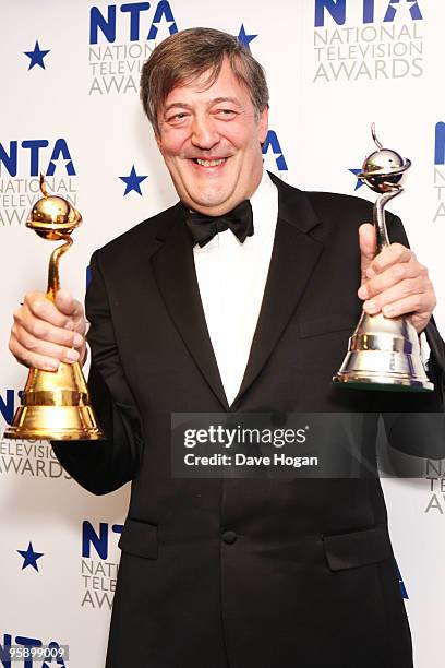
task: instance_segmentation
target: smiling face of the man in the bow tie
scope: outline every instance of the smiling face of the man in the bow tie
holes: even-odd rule
[[[209,87],[207,77],[205,72],[169,93],[156,141],[182,202],[216,216],[249,199],[260,183],[267,109],[257,118],[228,61]]]

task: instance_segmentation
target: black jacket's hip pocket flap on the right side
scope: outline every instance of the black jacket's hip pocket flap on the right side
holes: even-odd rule
[[[326,561],[332,571],[356,569],[393,557],[385,525],[348,534],[323,536]]]

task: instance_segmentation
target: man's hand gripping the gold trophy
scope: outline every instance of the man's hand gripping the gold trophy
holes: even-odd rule
[[[56,371],[60,361],[83,363],[86,356],[83,306],[67,290],[56,303],[44,293],[28,293],[14,312],[9,348],[26,367]]]

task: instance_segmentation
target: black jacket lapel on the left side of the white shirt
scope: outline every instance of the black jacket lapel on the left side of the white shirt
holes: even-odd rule
[[[152,265],[159,293],[182,341],[203,377],[219,399],[228,403],[208,335],[196,271],[193,246],[181,204],[173,207],[171,224],[157,234],[160,248],[152,255]],[[168,241],[168,242],[166,242]]]

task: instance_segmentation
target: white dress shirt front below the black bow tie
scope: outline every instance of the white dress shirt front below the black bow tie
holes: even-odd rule
[[[241,385],[260,315],[275,229],[278,192],[267,171],[251,196],[252,237],[230,229],[193,248],[205,320],[229,405]]]

